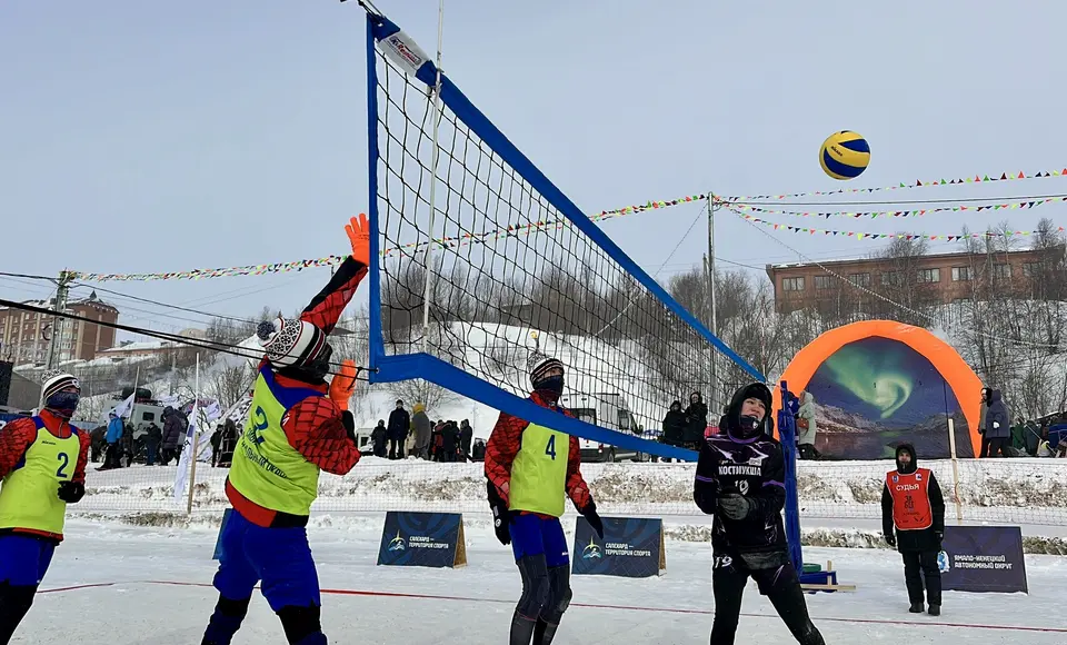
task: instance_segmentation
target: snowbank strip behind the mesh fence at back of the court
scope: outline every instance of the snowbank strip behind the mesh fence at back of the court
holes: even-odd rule
[[[947,460],[925,462],[940,482],[950,523],[955,499],[965,523],[1067,527],[1067,459],[964,459],[959,487]],[[323,474],[317,512],[439,510],[486,513],[482,464],[389,462],[363,457],[345,477]],[[800,462],[801,518],[876,520],[890,462]],[[694,464],[582,464],[598,504],[617,514],[692,515]],[[193,509],[221,512],[227,470],[198,464]],[[183,512],[173,499],[176,466],[97,472],[89,468],[86,498],[77,512]],[[1037,535],[1060,535],[1038,533]]]

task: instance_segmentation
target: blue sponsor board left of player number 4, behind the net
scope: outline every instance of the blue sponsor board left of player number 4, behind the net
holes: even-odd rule
[[[467,564],[463,516],[458,513],[386,514],[378,564],[460,567]]]

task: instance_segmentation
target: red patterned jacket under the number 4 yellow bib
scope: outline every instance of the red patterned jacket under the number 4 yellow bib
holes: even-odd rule
[[[556,409],[569,417],[574,415],[562,408],[557,408],[547,403],[536,391],[530,394],[530,400],[541,407]],[[486,444],[486,477],[492,482],[500,494],[500,498],[508,503],[511,493],[511,464],[515,456],[522,445],[522,430],[530,423],[513,417],[507,413],[500,413],[497,425],[493,426],[489,435],[489,441]],[[578,446],[578,437],[570,437],[569,450],[567,454],[567,496],[575,503],[575,508],[579,512],[585,508],[592,496],[589,494],[589,486],[581,477],[581,448]]]

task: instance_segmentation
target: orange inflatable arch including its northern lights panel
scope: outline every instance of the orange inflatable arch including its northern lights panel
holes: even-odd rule
[[[924,458],[924,452],[934,453],[927,455],[928,458],[947,457],[944,418],[937,423],[937,415],[946,414],[957,419],[957,454],[960,457],[979,454],[981,380],[951,346],[920,327],[893,320],[867,320],[831,329],[792,358],[781,380],[798,396],[809,390],[809,386],[818,389],[811,391],[816,403],[825,403],[820,401],[820,393],[826,393],[838,406],[832,408],[839,415],[836,420],[860,419],[857,424],[866,426],[860,429],[854,424],[850,428],[854,433],[841,433],[840,428],[837,433],[824,433],[828,419],[817,415],[820,428],[816,448],[831,449],[832,454],[827,457],[884,458],[888,456],[885,450],[893,443],[890,439],[913,441],[921,437],[926,437],[926,441],[920,443],[928,447],[916,446],[919,459]],[[781,408],[781,390],[774,388],[774,393],[777,413]],[[878,418],[867,420],[872,416]],[[927,425],[915,420],[918,418],[925,418]],[[964,419],[966,428],[960,427]],[[916,437],[909,423],[921,428],[914,430]],[[936,427],[943,430],[938,433]]]

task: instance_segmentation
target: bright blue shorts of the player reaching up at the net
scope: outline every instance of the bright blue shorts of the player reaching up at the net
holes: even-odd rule
[[[276,613],[286,606],[320,606],[319,577],[302,527],[266,528],[237,509],[219,532],[219,570],[215,588],[231,601],[252,596],[262,580],[263,597]]]

